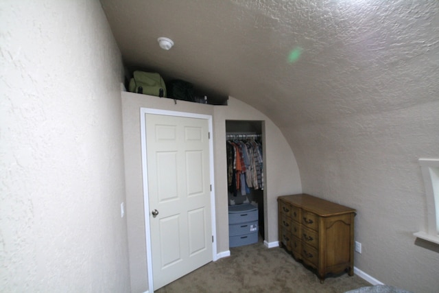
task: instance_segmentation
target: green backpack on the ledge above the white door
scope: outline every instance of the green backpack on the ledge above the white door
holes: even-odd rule
[[[128,91],[166,97],[166,85],[160,74],[154,72],[134,71],[128,85]]]

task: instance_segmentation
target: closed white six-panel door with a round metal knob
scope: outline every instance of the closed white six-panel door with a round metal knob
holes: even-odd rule
[[[209,125],[146,114],[145,130],[156,290],[212,261]]]

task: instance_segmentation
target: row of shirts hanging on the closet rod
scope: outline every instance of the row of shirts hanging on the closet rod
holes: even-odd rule
[[[250,188],[263,190],[263,156],[260,134],[227,134],[228,190],[237,196]]]

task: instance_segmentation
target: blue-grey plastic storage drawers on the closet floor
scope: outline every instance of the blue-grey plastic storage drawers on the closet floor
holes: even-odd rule
[[[252,204],[228,207],[228,242],[230,247],[258,242],[258,208]]]

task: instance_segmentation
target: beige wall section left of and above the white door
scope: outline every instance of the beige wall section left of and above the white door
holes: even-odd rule
[[[143,211],[140,108],[156,108],[212,115],[213,106],[182,101],[174,104],[174,99],[150,97],[128,92],[122,92],[121,95],[131,290],[134,293],[139,293],[145,292],[148,289],[145,213]]]

